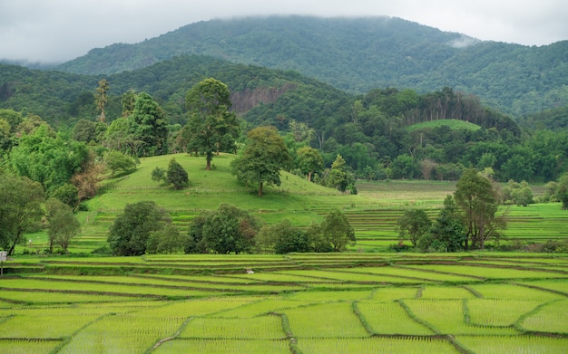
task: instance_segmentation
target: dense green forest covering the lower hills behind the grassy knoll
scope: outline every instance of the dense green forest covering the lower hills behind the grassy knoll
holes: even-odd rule
[[[64,186],[78,171],[88,172],[89,149],[101,158],[108,149],[134,157],[187,151],[180,138],[188,122],[186,94],[209,77],[228,86],[241,137],[271,125],[285,137],[295,161],[300,148],[318,149],[323,166],[314,171],[315,181],[326,177],[338,155],[351,182],[457,179],[466,167],[491,168],[500,181],[547,182],[568,169],[565,108],[513,119],[450,87],[426,93],[387,87],[356,95],[298,72],[204,56],[104,77],[0,65],[0,77],[2,165],[41,181],[47,190]],[[141,107],[134,110],[138,101]],[[64,151],[70,148],[80,160],[69,159]],[[66,161],[64,169],[48,170],[54,157]],[[299,165],[289,168],[301,173]],[[85,196],[93,193],[88,189]]]

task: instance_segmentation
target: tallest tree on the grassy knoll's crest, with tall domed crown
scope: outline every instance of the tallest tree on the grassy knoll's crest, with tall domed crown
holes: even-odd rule
[[[205,155],[207,170],[211,169],[213,154],[227,148],[234,150],[239,137],[239,122],[229,111],[230,106],[229,88],[212,78],[199,82],[187,93],[190,118],[181,130],[181,140],[190,152]]]

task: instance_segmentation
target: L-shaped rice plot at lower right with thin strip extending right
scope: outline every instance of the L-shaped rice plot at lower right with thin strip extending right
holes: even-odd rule
[[[517,334],[511,328],[473,326],[465,323],[462,300],[405,300],[416,318],[442,334]]]

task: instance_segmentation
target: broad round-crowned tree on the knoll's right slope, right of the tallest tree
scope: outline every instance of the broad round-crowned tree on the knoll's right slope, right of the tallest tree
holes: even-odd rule
[[[232,174],[240,181],[257,184],[262,196],[265,184],[280,186],[280,170],[289,163],[289,151],[278,130],[259,127],[250,130],[244,152],[230,166]]]

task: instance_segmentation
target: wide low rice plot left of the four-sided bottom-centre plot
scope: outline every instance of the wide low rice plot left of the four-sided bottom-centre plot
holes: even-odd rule
[[[279,316],[246,319],[197,318],[181,332],[180,338],[207,340],[284,340]]]

